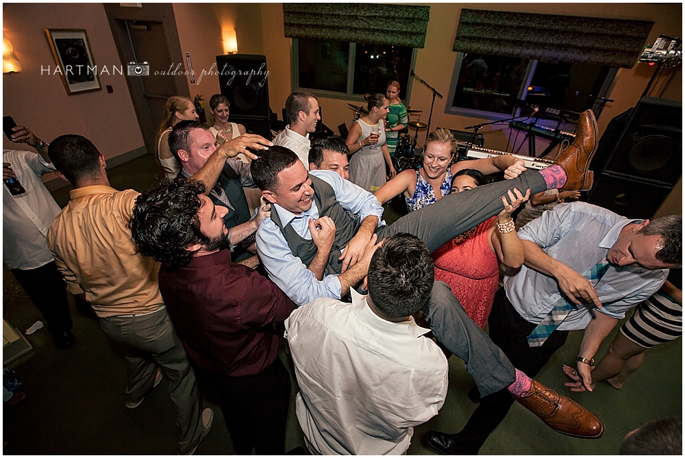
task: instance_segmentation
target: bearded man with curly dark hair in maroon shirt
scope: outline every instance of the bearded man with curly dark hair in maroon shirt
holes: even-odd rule
[[[206,372],[238,455],[282,455],[290,377],[273,323],[295,309],[223,246],[227,209],[201,181],[165,182],[136,200],[131,229],[140,253],[162,262],[162,298],[188,357]]]

